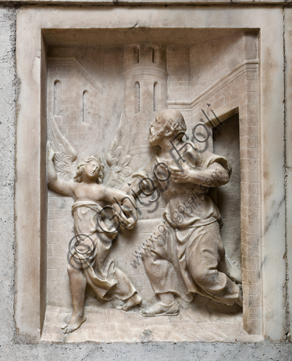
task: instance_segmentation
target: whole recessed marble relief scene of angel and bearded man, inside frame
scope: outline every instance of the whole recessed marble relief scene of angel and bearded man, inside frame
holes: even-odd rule
[[[49,48],[44,340],[256,340],[257,72],[257,33]]]

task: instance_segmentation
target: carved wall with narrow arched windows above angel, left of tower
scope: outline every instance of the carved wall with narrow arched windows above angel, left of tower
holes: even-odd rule
[[[102,81],[100,79],[99,81]],[[61,133],[78,152],[99,153],[102,140],[102,87],[75,58],[49,58],[48,118],[55,116]],[[82,142],[82,137],[86,142]]]

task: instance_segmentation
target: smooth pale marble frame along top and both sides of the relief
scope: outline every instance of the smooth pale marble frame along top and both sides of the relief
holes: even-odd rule
[[[246,238],[245,256],[253,255],[256,245],[258,259],[255,265],[250,259],[243,259],[243,265],[246,265],[243,279],[244,274],[248,283],[250,277],[261,279],[262,293],[254,305],[255,310],[248,306],[247,310],[244,310],[244,315],[245,327],[250,333],[262,334],[278,341],[283,334],[285,319],[281,286],[284,283],[286,267],[283,259],[284,202],[278,202],[284,200],[284,184],[277,188],[274,188],[274,185],[277,184],[279,175],[284,176],[284,122],[276,121],[284,114],[284,63],[283,59],[277,56],[283,49],[283,38],[279,36],[281,32],[273,32],[269,28],[269,21],[273,21],[278,29],[282,29],[282,11],[253,8],[253,17],[250,17],[248,8],[239,7],[193,7],[192,11],[190,7],[131,8],[125,16],[127,11],[126,7],[58,8],[57,11],[53,7],[27,7],[18,13],[16,61],[21,85],[16,129],[16,327],[20,334],[28,334],[39,340],[46,309],[47,183],[44,165],[47,138],[47,59],[42,30],[58,27],[111,27],[109,24],[114,24],[112,27],[118,28],[131,27],[135,23],[145,27],[178,27],[176,16],[180,12],[184,20],[183,24],[180,24],[181,27],[206,28],[206,24],[209,23],[217,28],[260,29],[260,130],[255,130],[260,133],[260,214],[255,222],[255,227],[260,228],[260,237],[257,235],[254,239]],[[86,24],[81,20],[82,17],[78,16],[80,12],[86,12]],[[219,12],[222,16],[219,16]],[[118,16],[124,16],[121,24],[118,22]],[[279,79],[282,78],[280,82]],[[274,92],[274,89],[279,91]],[[249,131],[250,125],[245,126],[245,131]],[[258,133],[255,133],[255,137]],[[248,141],[248,137],[245,138]],[[30,142],[27,142],[28,139]],[[281,146],[276,149],[269,147],[272,140]],[[248,155],[248,150],[244,151],[241,157],[245,158],[245,155]],[[253,190],[247,185],[247,202],[252,202],[249,197],[252,194]],[[252,227],[254,215],[248,215],[247,219]],[[273,247],[275,239],[279,240],[277,249]],[[275,266],[279,270],[278,273],[274,272]],[[244,288],[245,297],[253,295],[253,292],[248,291],[248,284],[245,284]],[[246,301],[247,298],[244,300],[245,307],[249,305]],[[278,319],[279,324],[275,326],[273,319]]]

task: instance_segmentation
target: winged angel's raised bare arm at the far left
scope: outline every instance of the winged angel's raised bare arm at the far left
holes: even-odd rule
[[[58,178],[56,169],[54,167],[54,155],[55,152],[51,148],[51,145],[47,144],[47,177],[48,177],[48,185],[49,188],[55,190],[61,195],[66,195],[68,197],[73,197],[75,184],[71,182],[62,181]]]

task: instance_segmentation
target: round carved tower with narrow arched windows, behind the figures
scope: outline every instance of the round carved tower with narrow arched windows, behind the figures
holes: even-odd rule
[[[150,123],[166,108],[166,48],[163,45],[132,44],[125,47],[124,112],[130,130],[133,169],[150,160],[154,147],[148,144]]]

